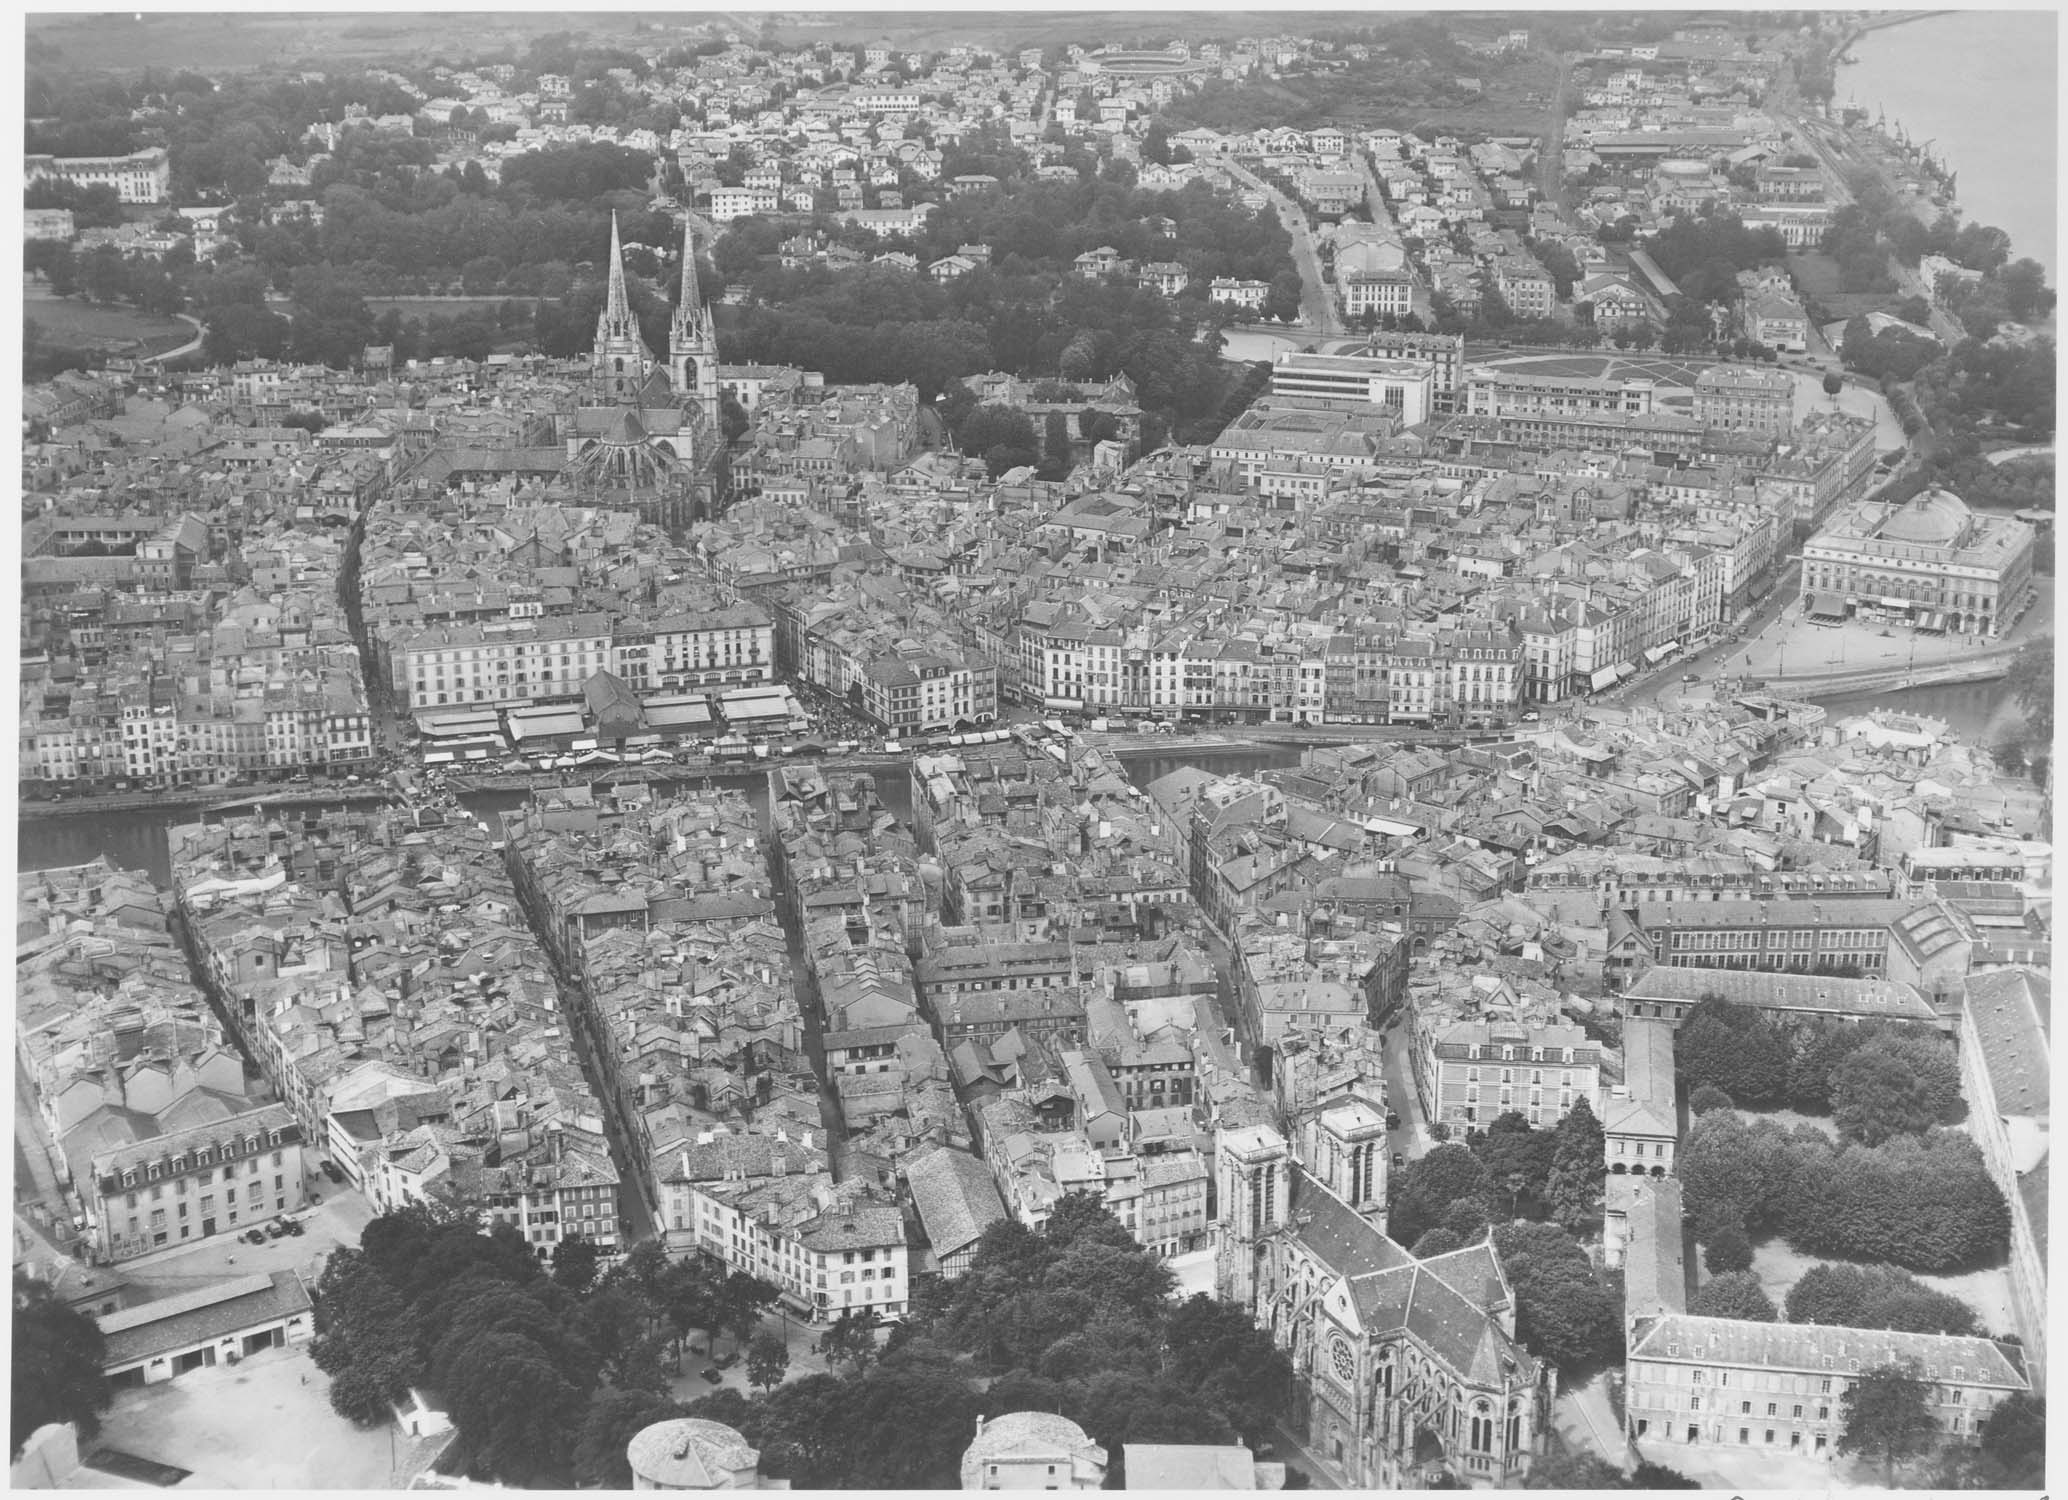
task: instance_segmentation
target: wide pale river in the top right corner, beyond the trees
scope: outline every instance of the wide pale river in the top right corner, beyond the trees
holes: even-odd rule
[[[1960,10],[1869,31],[1838,68],[1834,103],[1886,112],[1960,174],[1960,217],[2010,236],[2012,257],[2056,267],[2056,70],[2051,10]]]

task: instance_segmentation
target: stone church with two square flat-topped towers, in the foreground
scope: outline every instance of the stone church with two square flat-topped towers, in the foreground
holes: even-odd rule
[[[1297,1152],[1270,1126],[1220,1136],[1216,1291],[1292,1359],[1288,1426],[1342,1488],[1518,1490],[1551,1366],[1516,1343],[1491,1241],[1417,1260],[1386,1237],[1367,1113],[1324,1105]]]

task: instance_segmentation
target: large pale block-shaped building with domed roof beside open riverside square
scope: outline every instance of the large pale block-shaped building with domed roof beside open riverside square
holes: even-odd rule
[[[1803,544],[1803,610],[2002,635],[2033,602],[2033,528],[1952,490],[1859,501]]]

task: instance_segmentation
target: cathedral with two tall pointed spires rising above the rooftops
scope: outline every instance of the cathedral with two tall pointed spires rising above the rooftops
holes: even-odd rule
[[[589,387],[567,424],[575,499],[637,509],[678,528],[713,515],[724,490],[718,333],[697,290],[697,248],[682,226],[682,288],[668,360],[647,348],[625,290],[618,217],[610,215],[610,286],[589,348]]]

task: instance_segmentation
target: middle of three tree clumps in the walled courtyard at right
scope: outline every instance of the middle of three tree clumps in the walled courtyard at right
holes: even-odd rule
[[[2010,1210],[1975,1142],[1948,1130],[1880,1146],[1832,1142],[1816,1126],[1698,1115],[1677,1163],[1712,1270],[1752,1264],[1778,1233],[1803,1254],[1952,1272],[2002,1258]]]

